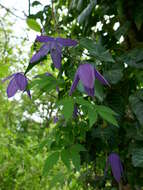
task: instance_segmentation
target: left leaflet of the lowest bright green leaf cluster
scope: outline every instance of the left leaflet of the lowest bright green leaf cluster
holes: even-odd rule
[[[54,152],[48,156],[43,168],[43,175],[46,176],[48,172],[54,167],[59,160],[59,152]]]

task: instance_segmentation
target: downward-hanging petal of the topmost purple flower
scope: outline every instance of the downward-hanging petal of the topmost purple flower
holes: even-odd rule
[[[60,69],[61,67],[61,59],[62,59],[62,49],[60,46],[58,46],[57,44],[55,45],[54,48],[50,49],[50,53],[51,53],[51,58],[52,61],[54,63],[54,66],[57,69]]]

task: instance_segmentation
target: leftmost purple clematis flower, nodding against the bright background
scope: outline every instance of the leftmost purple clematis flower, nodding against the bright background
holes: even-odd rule
[[[31,94],[29,90],[26,90],[28,85],[28,79],[23,73],[14,73],[8,77],[6,77],[2,82],[11,79],[9,85],[7,87],[7,96],[8,98],[14,96],[18,90],[27,91],[28,96],[31,98]]]

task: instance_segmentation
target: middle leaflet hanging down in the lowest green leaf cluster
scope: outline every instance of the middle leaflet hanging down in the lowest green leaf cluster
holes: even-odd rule
[[[65,164],[65,166],[69,169],[70,168],[70,151],[69,150],[62,150],[61,152],[61,160]]]

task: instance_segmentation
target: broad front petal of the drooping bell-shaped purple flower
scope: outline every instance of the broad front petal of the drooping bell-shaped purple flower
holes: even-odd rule
[[[93,89],[94,88],[94,68],[90,64],[80,65],[78,68],[79,78],[83,83],[84,87]]]

